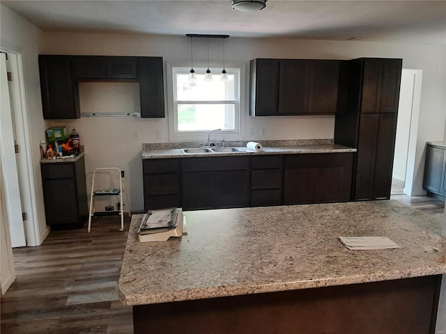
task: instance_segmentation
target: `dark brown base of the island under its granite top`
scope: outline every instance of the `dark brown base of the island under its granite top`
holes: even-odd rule
[[[431,334],[440,283],[424,276],[134,305],[134,334]]]

